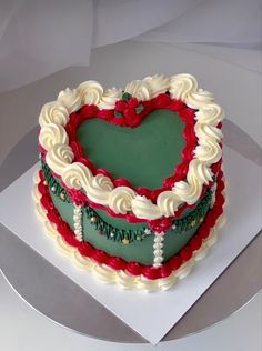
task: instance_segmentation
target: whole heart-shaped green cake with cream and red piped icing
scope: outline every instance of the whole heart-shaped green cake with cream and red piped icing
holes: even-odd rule
[[[170,288],[214,242],[222,119],[190,74],[67,88],[39,117],[39,217],[103,282]]]

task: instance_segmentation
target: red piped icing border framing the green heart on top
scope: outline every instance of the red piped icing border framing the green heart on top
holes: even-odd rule
[[[138,107],[142,107],[142,111],[140,113],[138,113],[135,110]],[[150,112],[158,109],[167,109],[172,112],[177,112],[180,119],[185,124],[183,130],[185,146],[182,150],[182,161],[174,167],[174,173],[163,181],[162,188],[153,190],[150,190],[145,187],[135,188],[130,181],[124,178],[113,179],[108,170],[103,168],[98,169],[93,164],[93,162],[84,156],[83,147],[78,141],[77,136],[78,128],[83,121],[99,118],[115,126],[135,128],[142,123],[142,121],[150,114]],[[115,111],[121,112],[122,117],[115,117]],[[153,203],[155,203],[157,198],[161,192],[165,190],[171,190],[175,182],[181,181],[187,177],[189,163],[193,159],[193,150],[195,149],[198,142],[198,138],[194,131],[194,118],[195,110],[187,107],[181,100],[172,100],[168,93],[161,93],[149,101],[138,101],[138,99],[135,98],[131,98],[128,101],[119,100],[115,103],[115,109],[111,110],[99,110],[94,104],[85,104],[79,111],[72,112],[70,114],[69,121],[66,126],[66,130],[69,137],[69,146],[71,147],[74,154],[74,162],[80,162],[87,166],[91,170],[93,176],[103,174],[110,178],[114,188],[129,187],[133,189],[139,195],[145,195]],[[40,148],[40,150],[43,156],[46,156],[47,151],[43,148]],[[60,178],[53,172],[52,174],[56,178]]]

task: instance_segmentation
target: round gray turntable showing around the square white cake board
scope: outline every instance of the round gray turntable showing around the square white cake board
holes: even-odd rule
[[[225,123],[225,143],[234,146],[236,151],[261,164],[258,144],[231,122]],[[238,143],[240,137],[242,142]],[[244,149],[241,147],[243,141]],[[36,149],[33,129],[2,163],[0,190],[37,161]],[[249,301],[262,283],[261,249],[262,237],[258,235],[163,340],[195,333],[226,318]],[[53,321],[99,339],[147,342],[3,227],[0,235],[0,267],[14,290]]]

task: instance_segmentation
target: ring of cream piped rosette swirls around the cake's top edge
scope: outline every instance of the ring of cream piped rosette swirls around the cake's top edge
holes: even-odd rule
[[[182,100],[196,110],[194,131],[198,146],[185,179],[175,182],[171,190],[161,192],[157,203],[128,187],[114,188],[105,176],[93,176],[87,166],[73,162],[73,152],[68,144],[64,127],[70,113],[85,103],[95,104],[99,109],[113,109],[122,97],[122,89],[104,90],[100,83],[90,80],[77,89],[67,88],[59,93],[57,101],[43,106],[39,117],[39,142],[47,151],[48,166],[68,188],[83,189],[92,202],[108,207],[118,214],[132,212],[137,218],[155,220],[173,215],[181,203],[195,203],[202,187],[212,179],[211,166],[222,156],[222,132],[218,124],[223,119],[223,110],[213,102],[210,92],[198,88],[195,78],[190,74],[147,77],[130,82],[124,89],[140,101],[151,100],[167,91],[172,99]]]

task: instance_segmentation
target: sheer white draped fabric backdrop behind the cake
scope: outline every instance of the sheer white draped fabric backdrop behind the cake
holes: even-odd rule
[[[130,38],[261,49],[261,0],[0,0],[0,92]]]

